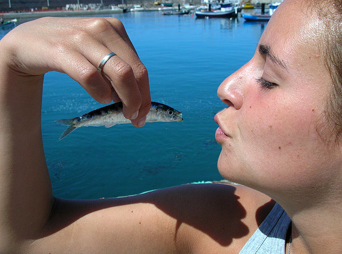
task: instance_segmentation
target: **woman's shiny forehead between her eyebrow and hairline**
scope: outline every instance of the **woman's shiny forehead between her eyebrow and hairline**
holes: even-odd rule
[[[329,80],[321,54],[320,19],[305,0],[285,0],[274,12],[260,39],[284,60],[291,74]],[[317,77],[316,77],[317,78]]]

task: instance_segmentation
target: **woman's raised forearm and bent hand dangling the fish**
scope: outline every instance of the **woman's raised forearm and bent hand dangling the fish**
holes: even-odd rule
[[[65,72],[101,103],[122,100],[124,114],[148,113],[148,75],[125,28],[113,18],[43,18],[0,41],[0,252],[35,239],[54,198],[41,135],[44,74]],[[115,52],[100,74],[97,67]],[[12,246],[13,243],[13,246]]]

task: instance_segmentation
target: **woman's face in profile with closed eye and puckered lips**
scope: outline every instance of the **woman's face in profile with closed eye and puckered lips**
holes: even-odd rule
[[[270,194],[328,182],[341,163],[325,119],[331,80],[317,41],[319,20],[302,1],[284,1],[254,57],[217,93],[218,167],[233,182]]]

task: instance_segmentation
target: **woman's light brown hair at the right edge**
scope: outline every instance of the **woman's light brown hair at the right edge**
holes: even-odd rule
[[[342,1],[307,0],[323,24],[320,51],[329,71],[332,87],[327,101],[327,120],[333,124],[336,141],[342,134]]]

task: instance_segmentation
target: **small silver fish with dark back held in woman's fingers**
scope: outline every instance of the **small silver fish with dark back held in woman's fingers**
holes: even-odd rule
[[[151,108],[146,116],[147,123],[153,122],[180,122],[182,121],[182,113],[176,111],[168,105],[151,102]],[[59,137],[58,140],[70,134],[73,130],[83,126],[105,126],[112,127],[115,124],[128,124],[130,120],[123,117],[122,102],[117,102],[98,108],[97,110],[86,113],[82,116],[56,120],[60,125],[69,126]]]

